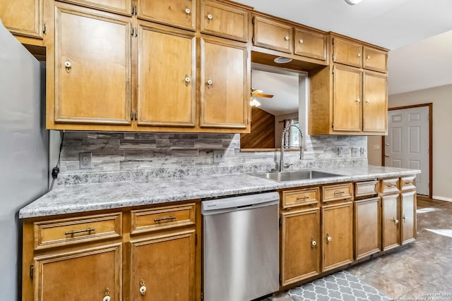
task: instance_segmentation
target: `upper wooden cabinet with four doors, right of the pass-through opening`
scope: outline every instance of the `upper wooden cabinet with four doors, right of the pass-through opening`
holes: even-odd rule
[[[309,72],[309,135],[386,135],[386,49],[333,34],[330,40],[333,63]]]

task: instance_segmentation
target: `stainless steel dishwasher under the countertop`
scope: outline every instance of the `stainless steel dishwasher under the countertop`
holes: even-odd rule
[[[278,192],[202,202],[203,297],[249,301],[279,288]]]

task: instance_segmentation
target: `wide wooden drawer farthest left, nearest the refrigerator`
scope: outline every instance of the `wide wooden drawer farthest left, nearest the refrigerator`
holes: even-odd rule
[[[81,218],[37,221],[35,250],[60,245],[71,245],[122,235],[122,214],[100,214]]]

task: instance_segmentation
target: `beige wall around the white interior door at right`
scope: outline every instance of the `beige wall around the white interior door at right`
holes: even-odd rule
[[[433,197],[452,201],[452,85],[390,95],[388,107],[430,102],[433,104]],[[374,145],[380,145],[381,149],[380,137],[368,137],[369,164],[381,165],[381,150],[372,150]]]

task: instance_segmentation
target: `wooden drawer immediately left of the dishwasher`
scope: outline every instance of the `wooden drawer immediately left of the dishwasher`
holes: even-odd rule
[[[194,203],[131,211],[131,234],[194,224]]]

